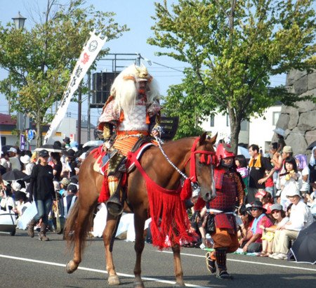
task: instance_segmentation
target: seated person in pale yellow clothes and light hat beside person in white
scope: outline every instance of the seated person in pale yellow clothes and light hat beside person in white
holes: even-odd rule
[[[283,227],[285,223],[289,221],[289,217],[285,216],[285,212],[283,211],[281,204],[273,204],[271,206],[271,215],[272,221],[274,222],[272,226],[265,228],[261,225],[261,229],[263,229],[262,235],[262,252],[260,254],[261,257],[268,257],[272,254],[272,243],[273,238],[275,237],[275,230],[278,227]]]

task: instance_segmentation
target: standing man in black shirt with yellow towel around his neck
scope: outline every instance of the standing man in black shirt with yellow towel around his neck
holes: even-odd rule
[[[249,161],[249,186],[247,202],[252,203],[255,201],[258,189],[265,189],[265,181],[274,173],[275,169],[272,167],[268,158],[262,157],[259,154],[259,147],[256,144],[249,146],[249,154],[251,159]],[[265,171],[270,171],[265,175]]]

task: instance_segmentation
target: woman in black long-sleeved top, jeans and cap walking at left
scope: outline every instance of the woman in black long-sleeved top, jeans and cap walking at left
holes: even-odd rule
[[[48,241],[46,237],[46,225],[48,224],[48,214],[51,211],[53,195],[55,195],[53,185],[53,168],[48,165],[48,151],[41,150],[39,152],[39,164],[35,165],[31,174],[31,182],[29,183],[29,201],[33,199],[37,206],[37,214],[29,222],[27,234],[34,237],[34,226],[41,219],[41,230],[39,240]]]

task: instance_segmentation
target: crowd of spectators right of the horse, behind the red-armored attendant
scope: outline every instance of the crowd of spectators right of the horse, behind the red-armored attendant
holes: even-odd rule
[[[263,155],[258,145],[250,145],[249,155],[250,159],[244,155],[235,157],[246,186],[244,204],[240,207],[236,202],[237,252],[287,259],[299,231],[316,218],[316,147],[309,160],[306,155],[294,155],[284,143],[281,147],[280,143],[272,143],[268,155]],[[195,211],[192,207],[191,222],[197,222],[201,248],[211,247],[212,243],[205,230],[201,233],[206,225],[205,211],[209,209]]]

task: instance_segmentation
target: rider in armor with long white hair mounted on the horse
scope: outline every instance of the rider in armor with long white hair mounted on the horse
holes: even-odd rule
[[[141,137],[159,136],[160,110],[157,82],[144,65],[131,65],[114,79],[98,126],[105,140],[103,150],[110,157],[107,209],[114,216],[122,212],[120,179],[126,155]]]

